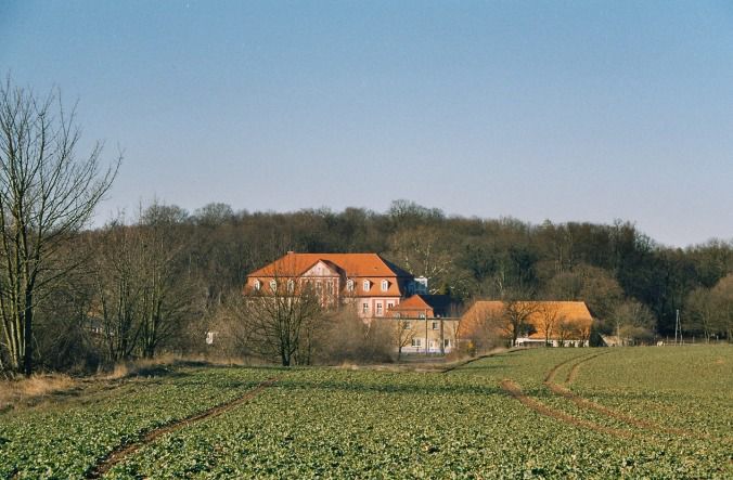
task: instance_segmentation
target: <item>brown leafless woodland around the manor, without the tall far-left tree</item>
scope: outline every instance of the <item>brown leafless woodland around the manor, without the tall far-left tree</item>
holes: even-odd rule
[[[242,296],[247,273],[287,250],[376,251],[463,304],[517,296],[584,300],[599,329],[620,324],[642,341],[673,336],[677,310],[685,337],[731,335],[730,242],[670,248],[629,222],[532,225],[447,217],[408,200],[385,212],[248,212],[210,204],[189,213],[153,204],[132,221],[119,218],[68,239],[63,252],[79,268],[39,304],[38,360],[73,368],[200,352],[206,332]]]

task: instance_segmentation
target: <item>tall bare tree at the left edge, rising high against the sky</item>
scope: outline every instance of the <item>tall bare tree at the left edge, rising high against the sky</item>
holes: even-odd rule
[[[56,107],[57,105],[57,107]],[[101,144],[77,158],[79,129],[57,95],[0,87],[0,315],[10,367],[30,375],[34,312],[76,264],[56,258],[110,189],[119,159],[100,168]]]

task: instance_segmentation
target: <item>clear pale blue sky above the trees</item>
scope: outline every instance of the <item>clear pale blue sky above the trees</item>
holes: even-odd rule
[[[733,239],[725,0],[5,0],[0,74],[124,152],[99,224],[406,198]]]

